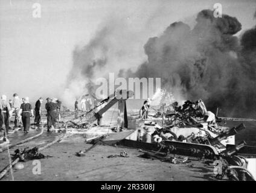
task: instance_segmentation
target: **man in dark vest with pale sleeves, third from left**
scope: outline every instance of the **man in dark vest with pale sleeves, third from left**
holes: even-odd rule
[[[30,114],[34,116],[34,112],[32,106],[29,102],[28,96],[24,98],[24,103],[21,104],[21,108],[19,110],[19,116],[22,118],[22,123],[24,127],[24,133],[28,133],[30,130]]]

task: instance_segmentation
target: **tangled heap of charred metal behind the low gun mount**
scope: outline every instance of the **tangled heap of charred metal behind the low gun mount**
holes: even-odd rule
[[[179,106],[178,102],[168,106],[166,111],[156,113],[155,117],[162,117],[163,127],[157,127],[156,133],[164,136],[164,139],[178,140],[184,142],[193,142],[196,144],[208,144],[217,145],[213,139],[222,134],[227,138],[234,135],[237,131],[242,130],[243,125],[239,125],[237,128],[228,128],[220,125],[220,122],[216,121],[214,113],[206,110],[205,104],[202,100],[195,102],[185,101],[182,106]],[[177,136],[174,132],[177,128],[194,127],[199,130],[197,133],[191,132],[188,136],[182,134]],[[170,136],[170,137],[168,137]],[[161,140],[161,139],[160,139]]]

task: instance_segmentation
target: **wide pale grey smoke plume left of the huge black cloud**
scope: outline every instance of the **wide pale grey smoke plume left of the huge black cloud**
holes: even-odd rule
[[[72,106],[75,98],[95,93],[97,78],[108,79],[110,72],[118,75],[121,68],[136,64],[141,55],[145,57],[139,39],[135,31],[127,29],[126,21],[107,19],[85,46],[77,46],[72,53],[72,69],[62,99],[65,104]]]

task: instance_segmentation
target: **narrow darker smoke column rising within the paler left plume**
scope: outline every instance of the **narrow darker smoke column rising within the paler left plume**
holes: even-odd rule
[[[97,31],[95,37],[88,44],[83,47],[77,46],[74,49],[72,69],[69,72],[66,87],[71,90],[70,92],[73,92],[72,95],[75,95],[75,98],[95,92],[95,74],[104,68],[108,62],[110,31],[110,27],[103,27]],[[73,86],[74,81],[80,83],[80,86]]]

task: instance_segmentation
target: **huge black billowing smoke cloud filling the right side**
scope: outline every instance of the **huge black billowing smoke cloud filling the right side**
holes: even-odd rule
[[[251,115],[256,106],[255,28],[240,40],[242,29],[235,17],[213,11],[197,14],[196,25],[171,24],[159,37],[144,46],[148,61],[136,72],[121,71],[128,77],[161,77],[161,87],[187,100],[202,98],[213,112],[226,116]]]

